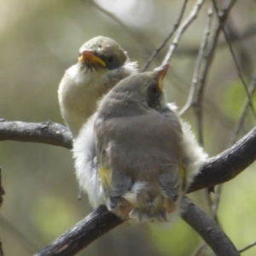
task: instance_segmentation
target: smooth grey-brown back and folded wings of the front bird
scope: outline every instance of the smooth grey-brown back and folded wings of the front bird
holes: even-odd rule
[[[166,108],[159,113],[114,119],[113,125],[110,120],[108,122],[105,121],[104,129],[99,129],[97,134],[102,133],[102,138],[108,140],[102,140],[101,145],[108,145],[105,154],[108,153],[112,173],[108,196],[113,198],[113,205],[131,189],[131,177],[147,180],[148,170],[155,172],[151,175],[158,175],[166,195],[172,201],[177,201],[183,190],[185,175],[182,175],[180,168],[183,161],[183,135],[176,114]],[[98,128],[101,128],[100,124]]]

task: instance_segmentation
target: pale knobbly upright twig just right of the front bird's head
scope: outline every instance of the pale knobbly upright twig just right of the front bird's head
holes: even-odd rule
[[[207,15],[207,26],[205,28],[205,32],[203,34],[203,38],[201,41],[201,46],[197,55],[197,59],[195,61],[195,69],[194,69],[194,74],[193,74],[193,80],[192,84],[190,87],[189,91],[189,97],[184,105],[184,107],[179,111],[180,115],[183,115],[192,105],[194,101],[194,96],[196,92],[196,86],[198,84],[198,78],[199,78],[199,73],[200,73],[200,68],[201,68],[201,61],[203,58],[203,55],[207,49],[207,44],[208,44],[208,38],[210,36],[210,30],[212,26],[212,6],[208,9],[208,15]]]

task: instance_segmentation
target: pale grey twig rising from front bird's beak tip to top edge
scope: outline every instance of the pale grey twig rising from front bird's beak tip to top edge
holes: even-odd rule
[[[181,36],[183,35],[183,32],[185,32],[186,29],[189,27],[189,25],[191,25],[192,22],[197,18],[197,15],[198,15],[199,11],[201,10],[201,7],[204,2],[205,2],[205,0],[197,0],[194,8],[192,9],[192,11],[189,14],[189,17],[186,20],[184,20],[183,24],[178,28],[176,36],[173,39],[173,42],[172,42],[171,46],[169,47],[168,52],[166,53],[166,56],[165,56],[162,64],[165,64],[165,63],[171,61],[173,52],[176,49],[177,44],[179,43],[179,40],[180,40]]]

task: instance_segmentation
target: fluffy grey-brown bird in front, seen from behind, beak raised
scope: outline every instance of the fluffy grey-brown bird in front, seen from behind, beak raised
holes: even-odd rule
[[[173,222],[207,159],[188,123],[166,102],[169,64],[122,79],[73,145],[76,174],[93,207],[124,220]]]

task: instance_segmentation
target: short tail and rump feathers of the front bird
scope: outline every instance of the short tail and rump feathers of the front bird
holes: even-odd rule
[[[164,189],[148,186],[148,183],[136,188],[122,196],[108,196],[108,210],[119,218],[133,218],[139,222],[172,223],[173,216],[178,216],[180,196],[170,198]]]

